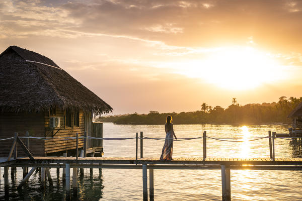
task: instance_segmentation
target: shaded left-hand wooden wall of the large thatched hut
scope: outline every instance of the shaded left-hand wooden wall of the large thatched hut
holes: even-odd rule
[[[0,138],[13,137],[15,132],[25,136],[28,131],[30,136],[44,137],[44,113],[0,113]],[[21,139],[25,142],[25,139]],[[13,139],[0,141],[0,156],[7,157],[12,147]],[[44,141],[30,139],[29,151],[33,156],[44,156]],[[24,151],[18,146],[18,155],[25,156]]]

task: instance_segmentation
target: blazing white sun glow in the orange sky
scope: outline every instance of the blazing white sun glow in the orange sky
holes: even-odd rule
[[[181,73],[231,90],[255,88],[286,78],[274,55],[249,46],[218,48],[206,58],[188,61]]]

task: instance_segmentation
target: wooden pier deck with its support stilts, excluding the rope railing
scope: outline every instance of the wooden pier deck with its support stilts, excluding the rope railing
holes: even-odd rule
[[[155,169],[221,169],[222,200],[231,200],[231,170],[302,170],[302,158],[203,158],[203,157],[178,157],[173,160],[159,160],[159,158],[145,157],[18,157],[6,161],[2,158],[0,166],[5,167],[5,192],[8,192],[8,168],[9,167],[37,167],[45,169],[57,167],[65,169],[66,199],[71,196],[70,184],[73,193],[77,193],[77,169],[78,168],[114,168],[114,169],[141,169],[143,199],[148,200],[147,169],[149,169],[149,196],[154,199],[154,170]],[[70,170],[72,168],[72,170]],[[24,178],[28,179],[33,171]],[[73,173],[72,176],[70,173]],[[51,175],[47,174],[51,180]],[[72,183],[70,179],[72,178]],[[49,182],[50,182],[49,180]],[[22,181],[23,184],[25,181]],[[45,185],[45,176],[41,180]]]

